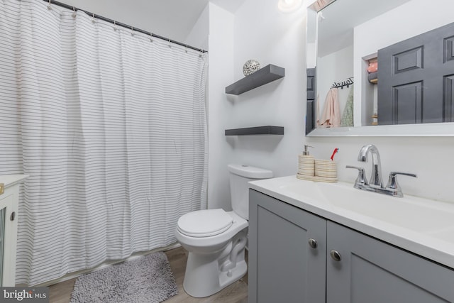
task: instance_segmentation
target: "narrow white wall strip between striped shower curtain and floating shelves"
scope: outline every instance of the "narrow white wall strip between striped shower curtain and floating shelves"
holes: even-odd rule
[[[209,4],[209,92],[208,92],[208,206],[231,210],[228,187],[228,162],[233,148],[226,141],[224,130],[229,127],[232,104],[225,89],[233,82],[233,21],[232,13]]]

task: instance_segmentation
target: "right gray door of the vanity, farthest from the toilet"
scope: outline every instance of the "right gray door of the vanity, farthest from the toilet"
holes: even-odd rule
[[[454,302],[453,270],[331,221],[327,235],[326,302]]]

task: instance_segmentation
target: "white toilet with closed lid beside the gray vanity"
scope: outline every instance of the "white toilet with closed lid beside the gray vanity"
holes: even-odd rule
[[[188,250],[183,288],[192,297],[208,297],[240,280],[248,270],[249,186],[272,177],[272,171],[248,165],[228,165],[233,211],[204,209],[178,219],[175,235]]]

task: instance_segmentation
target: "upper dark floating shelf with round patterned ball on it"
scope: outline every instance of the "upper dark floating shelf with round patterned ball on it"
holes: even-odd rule
[[[262,67],[257,72],[238,80],[237,82],[226,87],[226,94],[243,94],[256,87],[273,82],[285,76],[284,67],[269,64]]]

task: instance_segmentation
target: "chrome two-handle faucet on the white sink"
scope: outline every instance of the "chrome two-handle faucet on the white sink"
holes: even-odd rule
[[[353,187],[370,192],[378,192],[380,194],[389,194],[394,197],[404,197],[402,188],[399,186],[399,183],[397,183],[396,175],[406,175],[409,177],[417,176],[407,172],[390,172],[388,184],[384,187],[382,182],[382,163],[380,162],[380,153],[378,153],[377,147],[372,144],[362,146],[358,155],[358,161],[367,162],[367,153],[369,152],[372,155],[372,175],[370,176],[370,181],[367,181],[365,169],[363,167],[346,166],[346,168],[356,168],[358,170],[358,177],[356,178]]]

